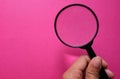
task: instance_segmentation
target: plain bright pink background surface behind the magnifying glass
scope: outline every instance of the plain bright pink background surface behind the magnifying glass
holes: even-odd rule
[[[119,0],[0,0],[0,79],[61,79],[86,54],[64,46],[54,32],[55,15],[71,3],[86,4],[97,14],[93,48],[120,79]]]

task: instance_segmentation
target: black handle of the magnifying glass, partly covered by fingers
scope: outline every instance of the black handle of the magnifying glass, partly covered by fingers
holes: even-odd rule
[[[96,56],[91,46],[86,47],[86,50],[91,59]],[[110,79],[103,67],[101,68],[101,71],[100,71],[100,79]]]

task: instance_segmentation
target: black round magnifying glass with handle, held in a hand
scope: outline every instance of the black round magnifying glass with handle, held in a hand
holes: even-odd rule
[[[99,29],[99,22],[94,11],[83,4],[70,4],[56,15],[54,29],[58,39],[66,46],[83,48],[92,59],[96,56],[91,45]],[[101,79],[109,79],[104,68],[100,71]]]

